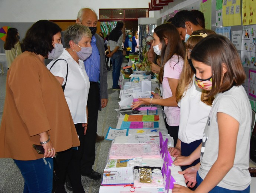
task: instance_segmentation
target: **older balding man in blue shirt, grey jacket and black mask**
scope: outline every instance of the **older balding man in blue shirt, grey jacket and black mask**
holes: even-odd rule
[[[76,23],[89,27],[92,33],[92,54],[84,61],[90,89],[87,101],[88,129],[84,136],[85,146],[81,160],[81,174],[93,180],[101,178],[101,174],[92,169],[95,161],[95,141],[104,140],[104,136],[98,136],[96,133],[98,111],[106,107],[108,103],[108,71],[105,62],[104,40],[96,34],[97,22],[98,16],[92,9],[82,8],[78,11]]]

